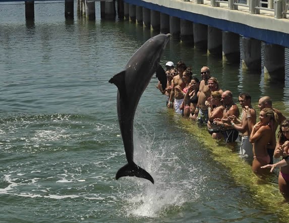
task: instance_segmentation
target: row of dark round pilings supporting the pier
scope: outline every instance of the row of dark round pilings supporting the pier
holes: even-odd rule
[[[31,12],[33,12],[34,18],[33,4],[33,1],[25,2],[25,8],[28,12],[25,13],[26,19],[29,18],[29,14],[32,15]],[[121,20],[137,23],[144,28],[152,29],[154,32],[170,33],[172,38],[190,43],[197,49],[207,50],[208,54],[222,57],[224,61],[229,63],[240,63],[240,54],[242,54],[242,67],[244,69],[261,71],[261,40],[127,4],[123,0],[101,1],[100,13],[102,19],[115,19],[118,15]],[[95,20],[95,2],[78,0],[77,14],[88,20]],[[73,0],[65,0],[65,17],[67,19],[74,18]],[[242,41],[242,52],[240,52],[240,40]],[[285,78],[284,46],[265,42],[263,53],[266,80],[283,82]]]

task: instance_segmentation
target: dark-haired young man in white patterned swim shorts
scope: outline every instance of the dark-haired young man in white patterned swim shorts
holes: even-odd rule
[[[178,71],[179,75],[172,78],[171,92],[170,92],[169,102],[167,105],[168,107],[171,106],[172,101],[175,98],[174,107],[175,107],[176,113],[178,113],[178,114],[181,113],[180,106],[181,106],[182,102],[184,101],[184,94],[180,91],[175,91],[175,88],[177,86],[180,86],[180,88],[184,89],[184,87],[186,86],[186,83],[183,79],[183,73],[186,69],[187,69],[186,64],[182,61],[179,61],[177,64],[177,71]]]

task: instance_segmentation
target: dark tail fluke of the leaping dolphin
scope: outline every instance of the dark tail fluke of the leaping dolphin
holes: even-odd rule
[[[149,180],[154,183],[152,176],[147,173],[144,169],[140,168],[137,164],[126,164],[117,173],[115,178],[118,180],[120,177],[139,177]]]

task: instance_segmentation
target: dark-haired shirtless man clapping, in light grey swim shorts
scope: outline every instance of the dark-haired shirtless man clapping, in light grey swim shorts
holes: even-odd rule
[[[246,159],[253,160],[253,145],[250,143],[250,133],[253,126],[256,124],[256,110],[251,105],[251,96],[248,93],[239,94],[239,103],[242,107],[242,114],[240,119],[236,116],[229,116],[229,121],[233,129],[240,132],[241,145],[239,155]],[[247,115],[248,114],[248,115]],[[250,114],[250,115],[249,115]],[[248,119],[251,119],[251,125],[249,126]]]

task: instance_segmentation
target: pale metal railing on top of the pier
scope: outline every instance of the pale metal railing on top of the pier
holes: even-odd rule
[[[227,7],[229,10],[248,10],[250,14],[260,14],[260,10],[272,12],[275,19],[287,18],[289,15],[289,0],[209,0],[211,7]],[[184,0],[184,2],[193,2],[204,4],[204,0]],[[241,9],[240,9],[240,8]]]

